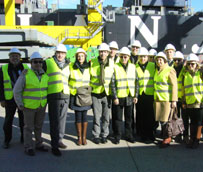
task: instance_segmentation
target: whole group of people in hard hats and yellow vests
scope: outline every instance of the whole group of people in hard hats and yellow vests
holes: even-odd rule
[[[203,122],[203,70],[198,56],[189,54],[184,60],[172,44],[167,44],[164,52],[148,51],[138,40],[130,49],[119,50],[115,41],[102,43],[99,56],[88,62],[86,51],[78,48],[75,62],[70,63],[66,47],[59,44],[55,55],[45,61],[34,52],[29,68],[21,63],[20,51],[12,48],[9,63],[0,70],[0,102],[6,110],[3,147],[10,146],[18,109],[25,153],[33,156],[35,150],[47,152],[41,133],[48,104],[51,150],[55,156],[61,156],[59,148],[67,147],[63,137],[68,108],[75,112],[77,145],[87,144],[87,111],[92,108],[95,144],[108,142],[110,128],[114,144],[119,144],[122,136],[135,143],[135,131],[141,142],[152,143],[160,123],[160,147],[165,148],[172,138],[164,130],[177,108],[184,121],[184,141],[188,147],[197,148]]]

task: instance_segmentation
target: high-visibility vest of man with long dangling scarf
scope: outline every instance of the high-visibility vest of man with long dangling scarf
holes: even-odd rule
[[[105,91],[106,95],[110,94],[110,82],[111,78],[113,76],[114,68],[112,65],[106,66],[104,69],[105,73],[105,83],[101,85],[99,83],[99,77],[100,77],[100,64],[98,59],[93,59],[91,61],[91,67],[90,67],[90,86],[92,87],[92,93],[100,94]]]

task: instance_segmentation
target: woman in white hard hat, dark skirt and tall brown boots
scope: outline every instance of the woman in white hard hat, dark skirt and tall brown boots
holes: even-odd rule
[[[87,53],[84,49],[79,48],[75,54],[76,61],[70,64],[70,109],[75,111],[75,125],[78,135],[77,145],[86,145],[87,135],[87,111],[91,109],[91,105],[80,106],[77,104],[76,96],[80,87],[90,84],[90,64],[87,63]],[[90,91],[91,93],[91,91]]]

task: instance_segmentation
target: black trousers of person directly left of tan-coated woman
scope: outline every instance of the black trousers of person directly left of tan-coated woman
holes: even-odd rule
[[[143,138],[153,138],[155,116],[153,108],[153,96],[139,95],[136,104],[136,130]]]

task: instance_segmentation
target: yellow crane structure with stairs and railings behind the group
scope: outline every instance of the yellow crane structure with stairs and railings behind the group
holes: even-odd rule
[[[87,26],[19,26],[15,24],[15,0],[4,0],[5,26],[0,29],[36,29],[59,43],[82,46],[88,49],[102,42],[102,2],[103,0],[88,0]]]

